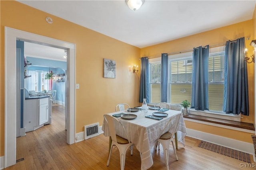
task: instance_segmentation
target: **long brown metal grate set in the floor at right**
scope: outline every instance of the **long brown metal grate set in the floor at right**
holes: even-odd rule
[[[250,154],[248,153],[244,153],[227,147],[222,147],[220,145],[216,145],[206,141],[201,141],[198,147],[210,150],[212,152],[216,152],[218,154],[223,154],[225,156],[229,156],[231,158],[235,158],[243,162],[251,163]]]

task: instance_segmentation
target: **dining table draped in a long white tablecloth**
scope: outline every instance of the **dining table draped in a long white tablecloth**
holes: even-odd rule
[[[151,115],[151,116],[157,115],[156,112],[159,112],[159,111],[148,109],[148,115]],[[137,111],[133,111],[133,112],[126,110],[126,111],[118,111],[118,112],[106,113],[106,114],[116,115],[119,113],[134,115],[134,118],[132,119],[126,119],[125,116],[116,117],[116,118],[124,126],[124,129],[128,135],[128,140],[134,143],[138,151],[141,153],[141,170],[146,170],[153,165],[151,148],[154,146],[156,141],[162,135],[161,133],[163,133],[163,129],[164,127],[166,127],[168,120],[170,120],[170,118],[173,117],[174,115],[178,115],[178,114],[180,115],[178,125],[175,129],[175,132],[177,133],[177,135],[175,136],[176,141],[179,141],[180,143],[183,144],[183,146],[185,146],[185,136],[187,134],[187,130],[186,130],[186,125],[184,123],[184,118],[181,111],[169,109],[167,111],[161,112],[161,113],[164,113],[163,114],[164,116],[160,116],[160,120],[145,117],[144,113],[142,113],[140,108],[138,108]],[[125,137],[124,131],[122,130],[121,125],[116,125],[115,130],[117,135],[119,135],[120,137]],[[102,131],[104,131],[104,136],[110,137],[108,123],[106,122],[105,119],[103,121]],[[110,137],[110,140],[111,140],[111,137]],[[110,144],[111,144],[111,141],[110,141]]]

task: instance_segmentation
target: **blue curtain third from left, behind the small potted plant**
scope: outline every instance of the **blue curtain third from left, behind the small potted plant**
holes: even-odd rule
[[[194,48],[192,69],[191,107],[195,110],[209,110],[208,102],[208,58],[209,45]]]

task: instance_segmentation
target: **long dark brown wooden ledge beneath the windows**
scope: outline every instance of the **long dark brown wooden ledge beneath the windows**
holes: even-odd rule
[[[216,124],[220,124],[220,125],[238,127],[238,128],[242,128],[242,129],[248,129],[248,130],[255,131],[255,127],[254,127],[253,123],[225,120],[225,119],[206,117],[206,116],[201,116],[201,115],[192,115],[192,114],[183,115],[183,117],[187,118],[187,119],[194,119],[194,120],[198,120],[198,121],[205,121],[205,122],[216,123]]]

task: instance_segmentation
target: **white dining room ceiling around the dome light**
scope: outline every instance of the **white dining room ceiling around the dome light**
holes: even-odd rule
[[[18,1],[139,48],[251,20],[256,4],[256,0],[145,0],[133,11],[125,0]]]

